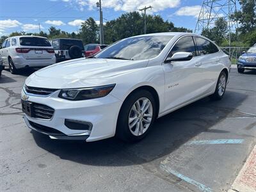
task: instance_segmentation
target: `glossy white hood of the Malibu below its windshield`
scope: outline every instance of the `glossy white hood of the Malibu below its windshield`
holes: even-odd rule
[[[116,76],[146,67],[147,61],[111,60],[111,59],[78,59],[65,61],[35,72],[38,77],[58,79],[99,79]]]

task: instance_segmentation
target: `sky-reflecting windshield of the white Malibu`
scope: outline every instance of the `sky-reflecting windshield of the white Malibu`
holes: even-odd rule
[[[172,38],[172,35],[125,38],[99,52],[95,58],[148,60],[158,56]]]

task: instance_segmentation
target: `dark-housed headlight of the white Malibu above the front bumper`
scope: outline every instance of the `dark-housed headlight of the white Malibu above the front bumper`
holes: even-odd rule
[[[106,86],[97,86],[93,88],[79,88],[70,90],[61,90],[59,97],[68,100],[86,100],[105,97],[110,93],[116,84]]]

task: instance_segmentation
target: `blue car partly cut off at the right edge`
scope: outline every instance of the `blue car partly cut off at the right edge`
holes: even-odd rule
[[[256,69],[256,47],[251,47],[239,57],[237,71],[243,73],[245,69]]]

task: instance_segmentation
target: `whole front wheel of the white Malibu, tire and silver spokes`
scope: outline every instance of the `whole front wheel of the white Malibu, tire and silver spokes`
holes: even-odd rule
[[[140,104],[140,107],[143,107],[143,105],[145,107],[148,106],[147,110],[138,113],[138,104]],[[152,128],[155,118],[156,101],[154,97],[147,90],[138,90],[125,99],[120,109],[116,125],[116,136],[120,140],[129,143],[140,141],[145,138]],[[130,123],[129,120],[131,120]]]

